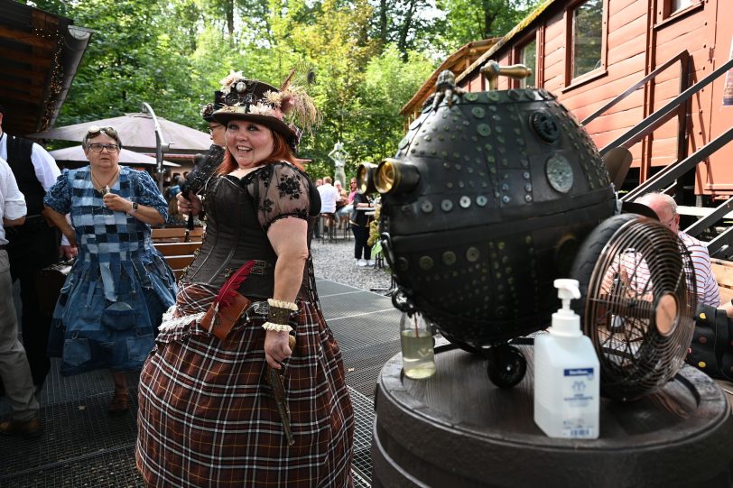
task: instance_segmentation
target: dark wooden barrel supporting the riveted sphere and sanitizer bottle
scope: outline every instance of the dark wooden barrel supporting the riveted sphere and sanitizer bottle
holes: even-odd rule
[[[731,486],[733,419],[723,391],[685,365],[639,401],[600,402],[600,437],[544,436],[534,424],[532,349],[514,389],[487,362],[451,345],[437,373],[404,377],[402,355],[378,380],[373,486]]]

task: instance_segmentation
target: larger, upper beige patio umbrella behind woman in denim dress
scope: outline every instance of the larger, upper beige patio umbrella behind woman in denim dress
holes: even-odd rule
[[[191,129],[185,125],[176,124],[170,120],[157,117],[162,136],[170,148],[164,149],[167,153],[195,154],[209,151],[211,138],[209,134]],[[153,117],[148,114],[125,114],[119,117],[93,120],[82,124],[57,127],[42,133],[30,134],[28,137],[36,139],[58,139],[60,141],[75,141],[80,143],[87,134],[90,125],[99,127],[115,127],[125,148],[136,152],[155,152],[155,124]]]

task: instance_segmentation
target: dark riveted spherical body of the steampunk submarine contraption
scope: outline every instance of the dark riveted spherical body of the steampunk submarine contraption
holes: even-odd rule
[[[448,90],[380,170],[395,281],[444,336],[474,347],[547,327],[552,281],[616,205],[589,135],[543,89]]]

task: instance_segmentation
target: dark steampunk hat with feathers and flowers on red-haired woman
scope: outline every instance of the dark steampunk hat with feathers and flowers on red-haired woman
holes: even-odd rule
[[[266,125],[283,134],[292,149],[297,150],[302,130],[311,134],[312,127],[320,122],[320,113],[305,89],[312,80],[312,71],[302,77],[296,76],[298,71],[292,69],[280,89],[244,78],[241,71],[230,72],[221,80],[223,106],[214,111],[213,118],[221,124],[237,119]]]

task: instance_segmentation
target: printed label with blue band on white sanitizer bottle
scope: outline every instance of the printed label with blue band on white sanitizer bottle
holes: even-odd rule
[[[562,371],[562,402],[564,412],[562,437],[593,438],[593,368],[568,368]]]

